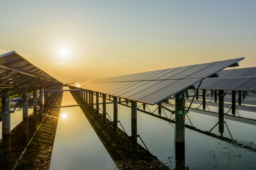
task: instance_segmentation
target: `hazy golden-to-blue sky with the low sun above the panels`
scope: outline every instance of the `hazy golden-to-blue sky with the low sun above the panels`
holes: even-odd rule
[[[256,66],[256,0],[2,0],[0,23],[0,54],[64,83],[238,57]]]

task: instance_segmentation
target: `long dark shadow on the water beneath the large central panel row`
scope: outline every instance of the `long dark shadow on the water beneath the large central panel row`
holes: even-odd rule
[[[77,104],[84,103],[76,92],[71,92],[71,94]],[[96,110],[92,111],[90,105],[80,106],[80,108],[118,169],[170,169],[140,144],[137,143],[137,149],[134,150],[131,137],[120,128],[115,133],[113,122],[108,119],[104,121],[103,114],[97,114]],[[184,157],[181,156],[177,159],[175,169],[188,169],[184,166]]]

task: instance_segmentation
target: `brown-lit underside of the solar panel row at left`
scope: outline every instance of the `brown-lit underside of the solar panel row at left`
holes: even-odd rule
[[[0,96],[5,90],[9,95],[22,93],[28,84],[28,91],[35,86],[62,85],[15,51],[0,55]]]

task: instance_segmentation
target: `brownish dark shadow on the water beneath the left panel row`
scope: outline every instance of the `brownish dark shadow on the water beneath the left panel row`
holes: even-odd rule
[[[62,96],[63,92],[60,92],[52,106],[60,106]],[[49,169],[59,111],[60,108],[50,108],[46,115],[40,115],[38,110],[37,123],[31,113],[28,120],[23,120],[26,122],[20,122],[11,130],[9,137],[3,135],[0,140],[0,169]],[[23,133],[23,123],[28,124],[28,134]],[[4,147],[5,138],[10,138],[8,152]]]

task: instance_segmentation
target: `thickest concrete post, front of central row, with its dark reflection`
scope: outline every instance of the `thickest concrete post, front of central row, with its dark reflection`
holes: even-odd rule
[[[185,109],[184,93],[175,95],[175,158],[180,163],[185,161]]]

